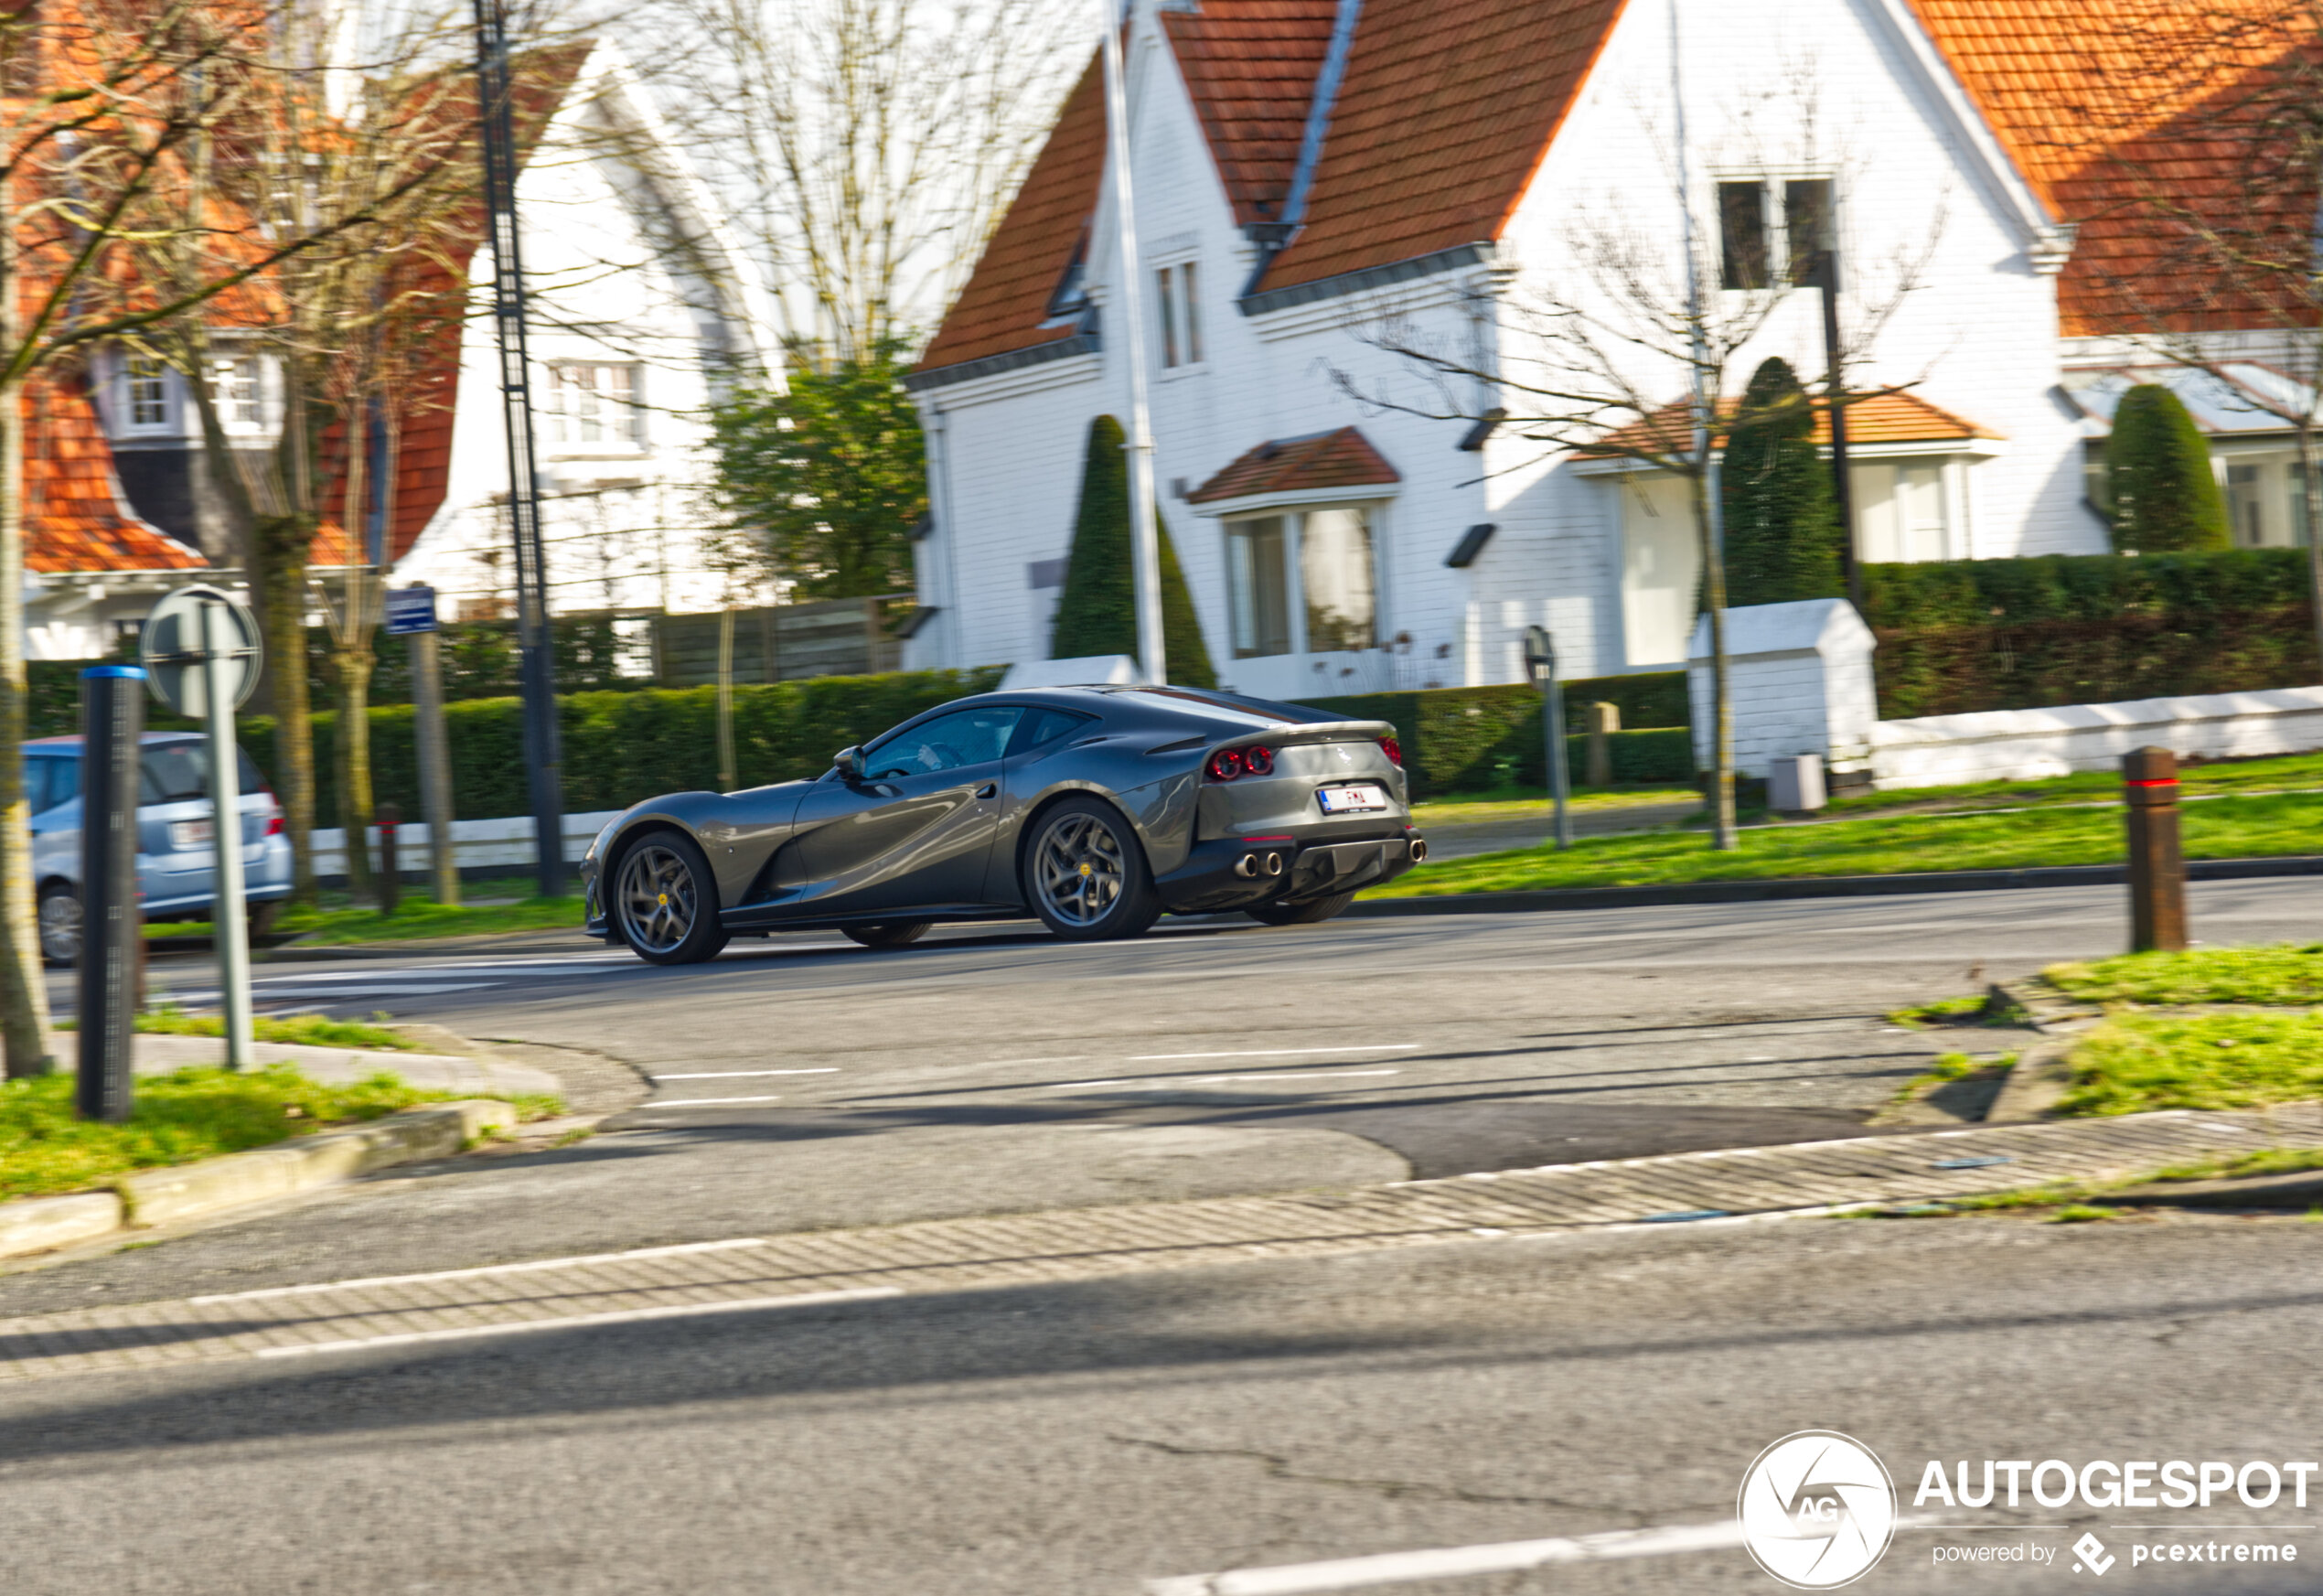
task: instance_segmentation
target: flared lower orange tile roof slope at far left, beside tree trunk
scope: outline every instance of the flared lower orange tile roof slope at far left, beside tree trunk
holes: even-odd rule
[[[44,372],[23,397],[23,562],[33,571],[197,571],[209,560],[121,497],[88,383]]]

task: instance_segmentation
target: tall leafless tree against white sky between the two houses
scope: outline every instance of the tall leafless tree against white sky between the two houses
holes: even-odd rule
[[[660,0],[646,63],[771,272],[871,360],[950,304],[1087,60],[1083,0]]]

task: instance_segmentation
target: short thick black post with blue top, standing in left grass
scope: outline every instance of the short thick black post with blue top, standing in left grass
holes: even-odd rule
[[[74,1110],[130,1117],[137,1031],[137,743],[144,671],[81,671],[81,966]]]

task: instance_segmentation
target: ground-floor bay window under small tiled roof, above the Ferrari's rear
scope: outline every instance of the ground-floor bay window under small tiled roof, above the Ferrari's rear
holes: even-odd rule
[[[1373,518],[1359,504],[1227,523],[1234,657],[1378,641]]]

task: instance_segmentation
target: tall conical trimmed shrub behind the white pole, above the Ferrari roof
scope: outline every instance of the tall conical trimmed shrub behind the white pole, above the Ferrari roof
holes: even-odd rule
[[[1064,569],[1064,595],[1057,599],[1057,625],[1048,641],[1050,660],[1138,653],[1138,599],[1129,560],[1129,455],[1122,441],[1122,423],[1113,416],[1089,423],[1073,548]],[[1159,504],[1155,532],[1162,539],[1162,646],[1168,653],[1168,678],[1185,688],[1215,688],[1217,671],[1201,641],[1194,595],[1185,585]]]

